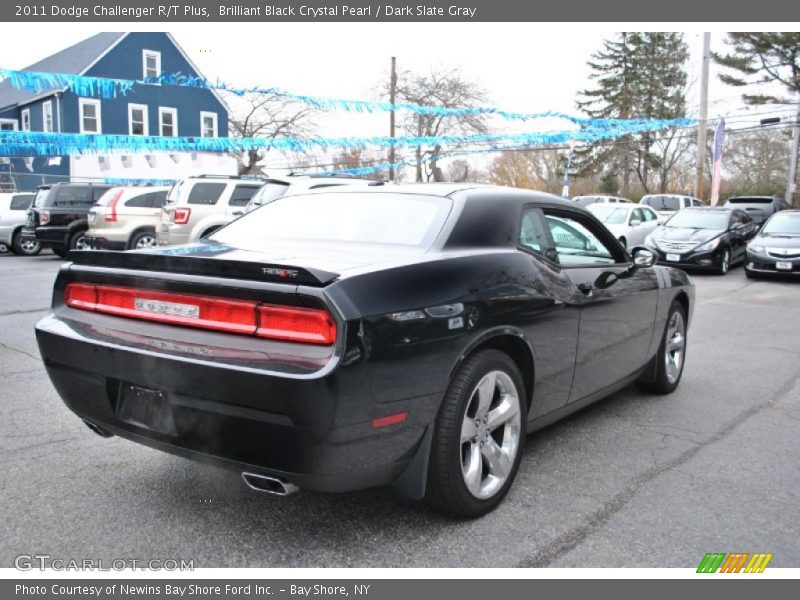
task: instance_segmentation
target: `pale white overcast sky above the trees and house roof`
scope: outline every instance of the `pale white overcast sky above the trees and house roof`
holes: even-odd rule
[[[491,104],[506,110],[574,113],[576,93],[588,83],[586,61],[604,38],[614,34],[613,29],[604,29],[609,25],[193,23],[172,24],[170,31],[206,77],[219,77],[232,85],[374,99],[380,83],[388,78],[390,57],[397,56],[398,66],[412,71],[426,71],[436,65],[457,67],[487,90]],[[631,24],[625,27],[656,29]],[[697,82],[704,27],[681,27],[692,51],[689,79]],[[717,27],[721,29],[712,36],[714,49],[721,47],[725,30],[723,25]],[[23,68],[98,31],[129,29],[155,28],[135,24],[15,24],[0,37],[0,66]],[[716,74],[712,65],[709,116],[742,112],[740,90],[723,85]],[[697,88],[695,84],[689,98],[695,113]],[[760,116],[753,116],[748,124],[757,123]],[[388,133],[386,114],[336,113],[316,120],[320,135],[325,136]]]

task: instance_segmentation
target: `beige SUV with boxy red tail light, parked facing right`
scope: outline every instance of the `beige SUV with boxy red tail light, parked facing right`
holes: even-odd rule
[[[244,213],[263,179],[227,175],[187,177],[172,186],[156,230],[159,246],[196,242]]]

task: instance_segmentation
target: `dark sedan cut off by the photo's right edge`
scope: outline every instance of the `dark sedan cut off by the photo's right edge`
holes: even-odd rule
[[[800,210],[772,215],[747,245],[744,272],[759,275],[800,275]]]

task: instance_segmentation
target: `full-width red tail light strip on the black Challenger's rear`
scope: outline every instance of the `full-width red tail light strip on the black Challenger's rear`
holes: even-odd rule
[[[80,310],[273,340],[319,345],[336,341],[333,317],[321,309],[91,283],[68,284],[64,302]]]

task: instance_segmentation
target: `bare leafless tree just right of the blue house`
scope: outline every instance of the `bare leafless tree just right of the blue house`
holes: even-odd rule
[[[275,139],[291,136],[307,138],[312,130],[312,109],[295,100],[277,94],[248,94],[241,98],[241,108],[235,110],[230,120],[233,135],[243,138]],[[248,150],[244,156],[237,154],[239,175],[260,175],[261,162],[270,147]]]

